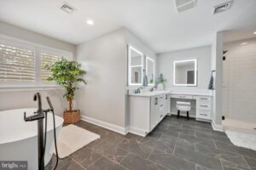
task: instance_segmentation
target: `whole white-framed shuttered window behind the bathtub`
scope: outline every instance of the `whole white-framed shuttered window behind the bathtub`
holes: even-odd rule
[[[0,88],[55,86],[46,81],[50,72],[44,66],[61,57],[72,59],[72,54],[0,36]]]

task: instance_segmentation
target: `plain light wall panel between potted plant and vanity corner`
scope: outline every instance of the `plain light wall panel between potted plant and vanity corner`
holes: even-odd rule
[[[83,116],[125,127],[125,30],[113,31],[77,47],[77,60],[87,71],[78,93]]]

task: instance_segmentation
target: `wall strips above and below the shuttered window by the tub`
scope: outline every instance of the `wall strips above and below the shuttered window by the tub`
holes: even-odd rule
[[[73,44],[62,42],[55,38],[47,37],[42,34],[38,34],[33,31],[28,31],[26,29],[20,28],[18,26],[12,26],[3,21],[0,21],[0,34],[19,38],[28,42],[35,42],[40,45],[48,46],[51,48],[58,48],[65,50],[67,52],[75,53],[75,46]],[[1,83],[1,82],[0,82]],[[15,91],[3,91],[0,90],[0,111],[18,109],[18,108],[28,108],[37,107],[37,102],[32,100],[33,94],[36,93],[38,89],[15,89]],[[49,108],[45,103],[45,97],[49,96],[55,107],[55,112],[58,115],[62,115],[62,112],[67,108],[67,102],[62,99],[62,90],[48,90],[42,88],[40,93],[44,99],[44,108]]]

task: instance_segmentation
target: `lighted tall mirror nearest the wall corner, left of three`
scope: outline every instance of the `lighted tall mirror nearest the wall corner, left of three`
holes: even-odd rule
[[[129,46],[128,64],[129,85],[143,85],[143,53]]]

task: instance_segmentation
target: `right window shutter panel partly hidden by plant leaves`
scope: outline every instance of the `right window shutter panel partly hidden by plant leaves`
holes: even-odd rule
[[[42,81],[46,81],[46,79],[50,76],[50,72],[45,69],[45,65],[52,65],[60,59],[61,59],[61,56],[58,56],[58,55],[46,54],[46,53],[40,54]]]

